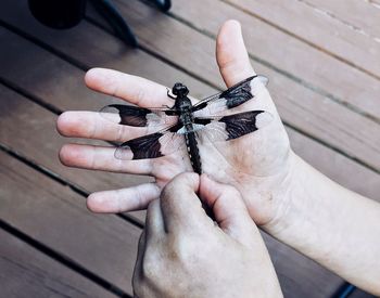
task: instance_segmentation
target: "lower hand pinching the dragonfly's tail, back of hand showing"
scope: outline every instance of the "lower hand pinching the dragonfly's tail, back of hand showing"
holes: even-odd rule
[[[213,209],[204,212],[197,193]],[[239,192],[182,173],[150,203],[134,272],[136,297],[282,297]]]

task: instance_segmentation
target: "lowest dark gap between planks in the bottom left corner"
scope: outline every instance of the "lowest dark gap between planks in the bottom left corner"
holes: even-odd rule
[[[83,275],[84,277],[90,280],[91,282],[96,283],[97,285],[103,287],[104,289],[115,294],[117,297],[128,297],[132,298],[129,294],[125,293],[119,287],[111,284],[103,277],[99,276],[98,274],[89,271],[88,269],[84,268],[69,257],[50,248],[49,246],[45,245],[43,243],[30,237],[29,235],[25,234],[24,232],[20,231],[18,229],[12,226],[8,222],[0,219],[0,229],[3,231],[7,231],[14,237],[23,241],[24,243],[27,243],[33,248],[39,250],[40,252],[45,254],[46,256],[52,258],[53,260],[60,262],[61,264],[72,269],[74,272]]]

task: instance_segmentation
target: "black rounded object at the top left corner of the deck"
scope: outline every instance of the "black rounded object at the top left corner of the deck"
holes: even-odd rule
[[[31,14],[43,25],[54,29],[68,29],[84,17],[86,0],[29,0]]]

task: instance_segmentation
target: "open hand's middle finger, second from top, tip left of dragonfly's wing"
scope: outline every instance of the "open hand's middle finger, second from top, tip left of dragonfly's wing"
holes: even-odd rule
[[[125,142],[144,135],[148,128],[129,127],[104,119],[98,112],[71,111],[60,115],[56,129],[64,137]]]

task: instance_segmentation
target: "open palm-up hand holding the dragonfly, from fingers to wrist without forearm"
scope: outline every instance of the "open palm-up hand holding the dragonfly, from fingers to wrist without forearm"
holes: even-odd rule
[[[216,56],[227,87],[254,75],[237,22],[227,22],[221,27]],[[164,86],[118,72],[91,69],[86,75],[86,83],[93,90],[141,107],[173,105]],[[284,194],[288,193],[289,183],[286,180],[293,165],[292,152],[265,88],[241,107],[244,111],[267,111],[274,119],[266,127],[242,138],[212,145],[200,144],[203,171],[216,181],[236,186],[242,194],[251,217],[257,224],[266,224],[287,206]],[[92,112],[64,113],[58,120],[58,129],[66,137],[106,141],[126,141],[147,133],[143,128],[110,124],[99,113]],[[176,152],[154,159],[119,160],[114,157],[112,147],[68,144],[62,147],[60,158],[63,164],[72,167],[155,178],[154,183],[89,196],[88,206],[91,210],[118,212],[147,208],[152,199],[160,196],[161,190],[173,177],[191,170],[183,154],[186,155]]]

